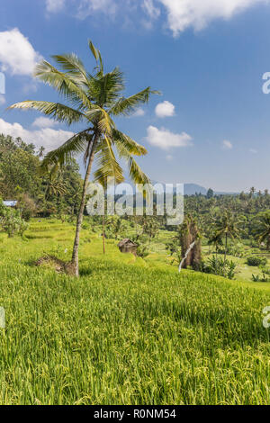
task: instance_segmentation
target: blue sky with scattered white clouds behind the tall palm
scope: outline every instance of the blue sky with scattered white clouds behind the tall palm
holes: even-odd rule
[[[165,183],[218,191],[270,188],[270,2],[267,0],[2,0],[0,132],[57,147],[77,128],[6,107],[54,100],[31,74],[40,58],[76,52],[91,70],[91,39],[106,69],[119,66],[126,94],[162,92],[117,121],[148,148],[139,160]]]

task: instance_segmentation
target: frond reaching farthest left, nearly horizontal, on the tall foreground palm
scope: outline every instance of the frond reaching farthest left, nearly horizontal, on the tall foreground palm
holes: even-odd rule
[[[72,109],[65,104],[41,102],[36,100],[26,100],[25,102],[15,103],[8,109],[33,109],[38,110],[47,116],[51,116],[56,121],[64,121],[67,125],[88,119],[87,116],[80,111]]]

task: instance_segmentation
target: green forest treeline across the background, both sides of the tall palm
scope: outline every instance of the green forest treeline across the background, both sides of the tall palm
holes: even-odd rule
[[[65,166],[40,170],[44,148],[36,148],[23,139],[0,135],[0,197],[3,200],[17,200],[17,231],[25,230],[23,220],[31,217],[55,216],[61,220],[76,220],[82,193],[83,181],[75,158]],[[4,209],[3,209],[4,210]],[[11,211],[3,211],[2,227],[11,232]],[[2,214],[3,214],[2,213]],[[19,214],[20,215],[19,215]],[[119,218],[95,216],[89,218],[93,226],[103,224],[106,236],[118,232],[125,237],[121,228],[124,221],[138,227],[134,240],[141,246],[141,256],[146,254],[150,242],[159,230],[172,231],[171,241],[166,248],[171,255],[184,256],[186,248],[196,241],[193,252],[185,266],[198,268],[202,262],[201,244],[213,246],[217,253],[238,256],[236,240],[249,247],[270,250],[270,194],[268,190],[257,192],[252,187],[248,193],[215,195],[211,188],[206,195],[184,196],[184,223],[178,227],[168,226],[165,216],[123,216]],[[8,231],[7,230],[7,231]],[[147,237],[139,242],[141,238]],[[179,258],[179,259],[180,259]],[[223,266],[223,265],[222,265]]]

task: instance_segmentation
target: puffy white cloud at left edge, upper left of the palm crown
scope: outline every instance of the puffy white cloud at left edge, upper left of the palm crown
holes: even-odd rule
[[[0,32],[0,64],[12,75],[32,75],[41,56],[17,28]]]

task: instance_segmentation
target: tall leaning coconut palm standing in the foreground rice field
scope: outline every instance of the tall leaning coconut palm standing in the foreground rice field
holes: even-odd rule
[[[60,70],[46,60],[36,67],[35,76],[55,88],[58,94],[67,100],[68,105],[28,100],[11,106],[11,109],[38,110],[67,125],[77,122],[85,124],[84,130],[77,132],[59,148],[50,151],[41,165],[45,169],[51,165],[62,166],[70,157],[84,152],[85,180],[77,214],[70,268],[70,273],[76,276],[79,275],[79,235],[94,156],[97,157],[97,169],[94,172],[96,182],[100,182],[104,177],[113,177],[116,184],[124,180],[122,168],[114,154],[116,149],[118,156],[129,166],[130,179],[138,184],[148,183],[148,176],[142,172],[133,157],[147,154],[146,148],[117,130],[112,117],[133,113],[139,104],[148,103],[150,94],[157,94],[148,86],[138,94],[124,97],[121,94],[125,88],[121,70],[115,67],[111,72],[104,73],[100,51],[95,49],[91,41],[89,41],[89,48],[96,61],[92,74],[86,71],[83,62],[73,53],[53,56]]]

